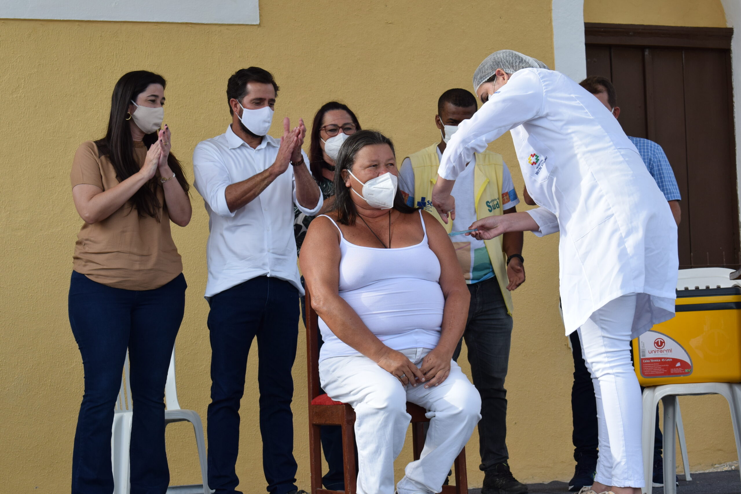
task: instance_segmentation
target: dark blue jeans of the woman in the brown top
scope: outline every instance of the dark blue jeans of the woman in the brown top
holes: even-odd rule
[[[70,326],[82,354],[84,395],[72,455],[72,493],[110,494],[113,406],[129,350],[133,400],[131,494],[164,494],[165,381],[185,310],[185,277],[155,290],[123,290],[73,271]]]

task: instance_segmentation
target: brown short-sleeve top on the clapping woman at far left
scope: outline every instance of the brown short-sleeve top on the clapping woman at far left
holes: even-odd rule
[[[134,156],[141,165],[147,156],[142,142],[134,143]],[[72,162],[72,187],[91,184],[108,190],[119,184],[107,156],[100,156],[93,141],[80,144]],[[146,185],[144,187],[147,187]],[[182,273],[182,260],[170,234],[165,192],[156,186],[163,204],[159,221],[139,216],[131,201],[94,224],[83,224],[77,234],[73,270],[109,287],[124,290],[153,290]]]

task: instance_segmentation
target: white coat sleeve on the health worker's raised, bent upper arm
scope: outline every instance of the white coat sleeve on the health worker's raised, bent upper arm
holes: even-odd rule
[[[471,161],[473,153],[482,153],[503,133],[539,116],[544,100],[543,85],[536,71],[518,70],[471,119],[459,124],[458,131],[442,153],[437,174],[455,180],[465,170],[465,164]]]

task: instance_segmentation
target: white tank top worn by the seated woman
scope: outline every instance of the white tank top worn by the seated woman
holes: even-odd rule
[[[326,216],[326,215],[321,215]],[[329,218],[329,216],[327,216]],[[424,238],[397,249],[350,244],[339,232],[339,296],[387,347],[434,348],[440,339],[445,297],[440,288],[440,261]],[[337,227],[337,224],[329,218]],[[339,227],[337,227],[339,230]],[[319,361],[359,352],[334,336],[319,318],[324,345]]]

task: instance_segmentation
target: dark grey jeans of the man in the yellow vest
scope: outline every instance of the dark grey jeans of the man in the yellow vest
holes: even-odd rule
[[[473,385],[481,394],[479,421],[479,453],[481,470],[497,463],[506,463],[507,452],[507,390],[505,377],[509,364],[512,337],[512,316],[502,297],[496,278],[469,284],[471,305],[468,308],[463,339],[468,348]],[[461,351],[459,341],[453,360]]]

